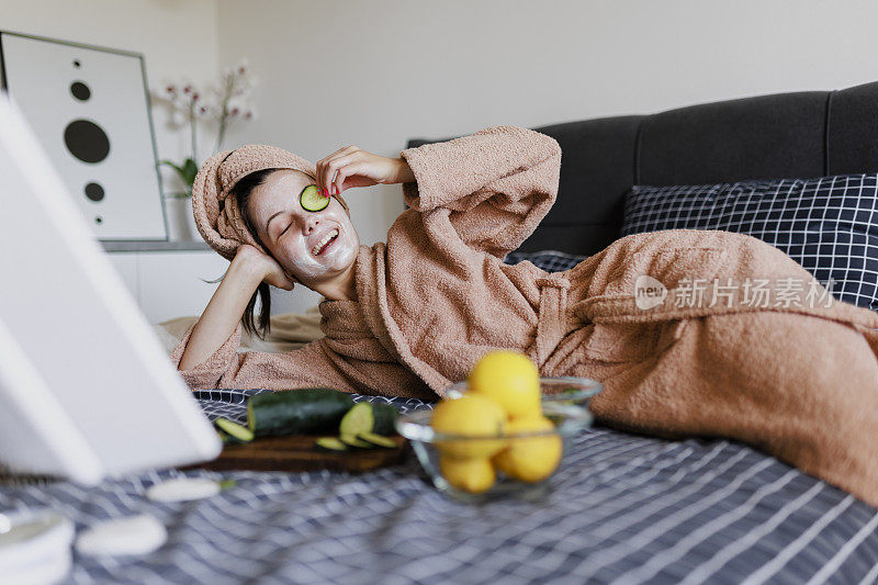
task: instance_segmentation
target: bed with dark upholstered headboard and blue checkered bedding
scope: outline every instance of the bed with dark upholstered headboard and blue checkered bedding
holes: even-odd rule
[[[878,83],[870,83],[536,127],[563,150],[559,199],[506,261],[550,271],[575,266],[620,237],[635,185],[874,173],[876,112]],[[319,335],[315,310],[275,318],[281,333],[268,345],[245,340],[247,347],[288,350]],[[190,323],[175,319],[157,333],[172,347]],[[195,396],[210,417],[241,418],[257,392]],[[402,412],[431,407],[354,400]],[[746,445],[667,440],[598,424],[566,457],[552,490],[534,503],[459,504],[408,460],[362,475],[155,470],[94,490],[8,482],[0,510],[50,506],[78,528],[149,511],[168,527],[168,543],[145,558],[78,555],[70,575],[77,583],[878,581],[878,510]],[[236,485],[194,503],[143,497],[149,485],[178,475]]]

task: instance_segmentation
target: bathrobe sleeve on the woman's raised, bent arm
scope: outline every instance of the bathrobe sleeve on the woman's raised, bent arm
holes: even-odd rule
[[[430,237],[457,237],[503,259],[554,204],[561,146],[519,126],[493,126],[401,151],[415,175],[403,196],[421,212]]]

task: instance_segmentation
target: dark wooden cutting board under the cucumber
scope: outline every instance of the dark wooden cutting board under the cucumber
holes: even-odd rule
[[[348,471],[361,473],[386,465],[402,463],[412,448],[399,435],[390,437],[396,448],[349,448],[334,452],[323,450],[314,440],[326,435],[291,435],[288,437],[260,437],[246,445],[227,445],[213,461],[193,468],[214,471]]]

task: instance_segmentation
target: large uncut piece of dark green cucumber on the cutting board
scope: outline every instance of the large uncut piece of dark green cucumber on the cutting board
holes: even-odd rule
[[[257,437],[331,432],[352,404],[350,394],[327,387],[264,392],[247,401],[247,424]]]

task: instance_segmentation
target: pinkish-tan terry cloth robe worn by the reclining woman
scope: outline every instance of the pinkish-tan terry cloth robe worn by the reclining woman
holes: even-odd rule
[[[415,176],[403,184],[410,209],[386,244],[360,247],[358,301],[319,304],[326,337],[237,353],[238,325],[181,372],[191,387],[429,400],[485,352],[516,349],[542,375],[600,381],[590,408],[601,424],[739,439],[878,506],[878,315],[834,301],[777,248],[727,232],[632,235],[564,272],[505,265],[554,203],[556,140],[495,126],[401,156]],[[643,277],[665,291],[656,306],[641,307]],[[754,303],[762,281],[768,299]]]

